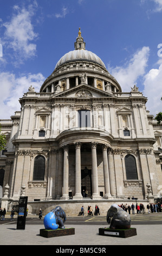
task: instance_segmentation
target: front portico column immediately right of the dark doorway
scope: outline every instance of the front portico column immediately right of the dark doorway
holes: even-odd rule
[[[98,165],[96,155],[96,142],[92,142],[92,199],[99,199],[99,188],[98,188]]]

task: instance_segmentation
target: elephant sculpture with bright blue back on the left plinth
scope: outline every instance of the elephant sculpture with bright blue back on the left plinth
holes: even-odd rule
[[[51,210],[43,220],[44,227],[46,229],[64,229],[64,222],[66,221],[66,214],[62,210],[61,206],[56,206],[55,209]]]

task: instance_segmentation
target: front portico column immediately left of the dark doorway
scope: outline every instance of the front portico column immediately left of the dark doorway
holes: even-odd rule
[[[74,199],[81,200],[81,155],[80,155],[81,143],[75,143],[75,196]]]

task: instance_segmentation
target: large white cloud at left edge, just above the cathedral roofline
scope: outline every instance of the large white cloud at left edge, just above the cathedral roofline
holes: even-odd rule
[[[20,111],[21,105],[18,101],[20,97],[28,92],[31,85],[35,88],[35,92],[39,92],[44,80],[45,77],[41,73],[16,77],[9,72],[2,72],[0,81],[3,97],[0,97],[0,119],[10,119],[15,111]]]

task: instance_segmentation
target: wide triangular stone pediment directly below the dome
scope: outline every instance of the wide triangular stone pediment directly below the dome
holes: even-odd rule
[[[88,84],[80,84],[64,92],[55,94],[53,97],[79,97],[79,98],[90,98],[90,97],[113,97],[111,93],[105,92],[98,88],[88,86]]]

